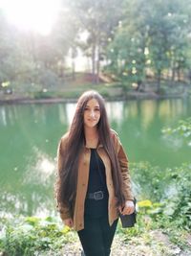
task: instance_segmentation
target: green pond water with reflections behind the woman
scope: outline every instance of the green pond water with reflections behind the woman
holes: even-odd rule
[[[111,127],[132,163],[148,161],[164,170],[190,161],[190,146],[168,140],[161,129],[191,114],[190,99],[107,103]],[[54,215],[57,144],[74,104],[0,106],[0,213]]]

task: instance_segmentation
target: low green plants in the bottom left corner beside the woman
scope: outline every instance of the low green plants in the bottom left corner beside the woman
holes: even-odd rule
[[[40,251],[56,253],[64,244],[76,239],[74,232],[61,227],[52,218],[39,219],[35,217],[4,220],[0,237],[0,251],[6,255],[33,256]],[[52,254],[55,255],[55,254]]]

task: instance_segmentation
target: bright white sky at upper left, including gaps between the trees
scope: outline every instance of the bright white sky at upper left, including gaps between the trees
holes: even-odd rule
[[[45,36],[52,32],[53,24],[61,8],[63,8],[61,0],[0,0],[0,9],[16,29]],[[81,40],[86,40],[87,36],[87,32],[82,33]],[[70,55],[66,61],[72,67],[73,59]],[[90,60],[83,56],[80,49],[77,49],[75,71],[89,69]]]

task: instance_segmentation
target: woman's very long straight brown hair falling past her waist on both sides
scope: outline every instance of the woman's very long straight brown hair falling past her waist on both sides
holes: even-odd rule
[[[100,119],[97,124],[99,142],[103,145],[107,152],[112,166],[112,177],[117,197],[117,204],[124,203],[122,195],[122,178],[120,175],[120,167],[117,160],[117,152],[115,151],[111,129],[108,122],[105,102],[102,96],[96,91],[87,91],[78,99],[74,112],[74,119],[69,129],[67,150],[64,154],[62,168],[59,170],[58,183],[56,188],[57,200],[61,205],[70,207],[74,204],[77,184],[77,168],[80,151],[85,143],[84,134],[84,109],[87,103],[96,99],[100,109]]]

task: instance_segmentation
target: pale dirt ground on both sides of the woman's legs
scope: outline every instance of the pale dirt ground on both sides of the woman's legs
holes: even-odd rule
[[[169,241],[167,235],[160,230],[149,231],[143,237],[134,237],[129,242],[117,234],[112,246],[111,256],[191,256],[191,235],[187,238],[188,246],[180,248],[179,245]],[[60,256],[81,256],[79,242],[66,244]]]

